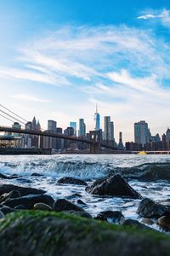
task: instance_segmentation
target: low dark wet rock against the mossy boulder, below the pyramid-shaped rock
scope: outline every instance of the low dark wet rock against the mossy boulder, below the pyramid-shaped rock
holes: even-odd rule
[[[119,211],[99,212],[99,214],[95,217],[95,219],[105,220],[115,224],[119,224],[121,218],[124,218],[124,216],[122,215],[122,212]]]

